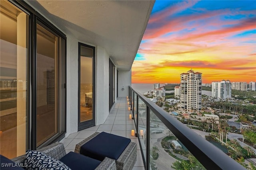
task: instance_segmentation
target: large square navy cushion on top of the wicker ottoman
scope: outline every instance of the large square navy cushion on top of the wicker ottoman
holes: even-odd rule
[[[101,161],[105,157],[117,160],[130,142],[131,139],[126,137],[102,132],[85,143],[80,153]]]

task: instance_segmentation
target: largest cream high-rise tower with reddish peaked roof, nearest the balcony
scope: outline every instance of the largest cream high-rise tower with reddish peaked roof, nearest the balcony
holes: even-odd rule
[[[202,108],[202,73],[192,69],[180,74],[180,105],[187,111]]]

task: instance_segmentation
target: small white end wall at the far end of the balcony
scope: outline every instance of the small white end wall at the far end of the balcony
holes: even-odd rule
[[[119,71],[118,76],[118,97],[128,96],[129,86],[132,85],[132,71]],[[122,88],[124,86],[124,91]]]

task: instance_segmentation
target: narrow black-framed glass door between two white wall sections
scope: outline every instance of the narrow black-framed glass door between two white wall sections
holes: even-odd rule
[[[82,130],[95,125],[95,47],[79,43],[78,52],[78,130]]]

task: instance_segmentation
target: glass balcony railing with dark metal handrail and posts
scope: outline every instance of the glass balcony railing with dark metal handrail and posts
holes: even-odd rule
[[[245,169],[131,87],[129,100],[146,170]]]

